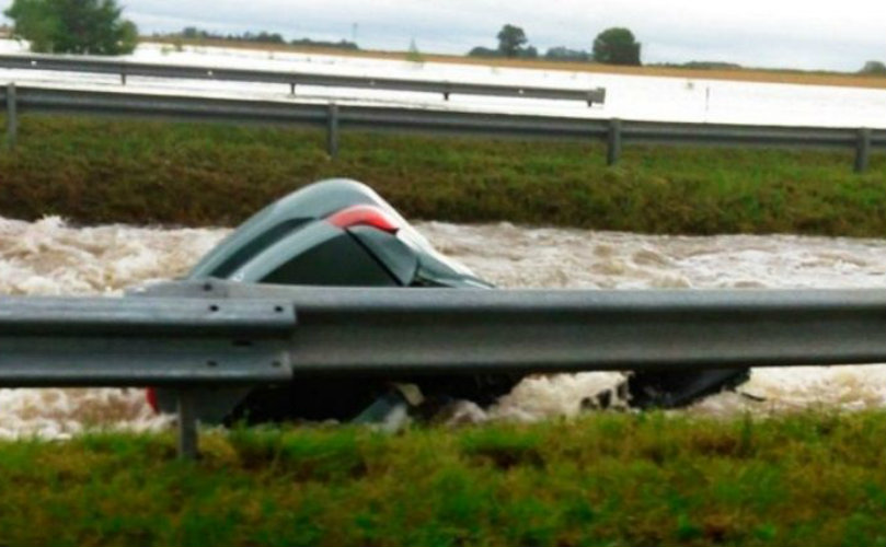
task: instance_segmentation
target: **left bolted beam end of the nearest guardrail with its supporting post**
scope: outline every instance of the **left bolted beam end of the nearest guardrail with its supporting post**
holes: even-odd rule
[[[168,386],[195,457],[196,389],[288,382],[291,305],[268,300],[0,298],[0,386]]]

